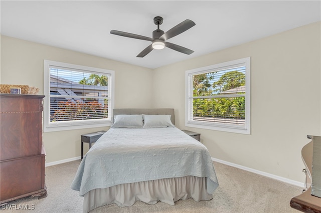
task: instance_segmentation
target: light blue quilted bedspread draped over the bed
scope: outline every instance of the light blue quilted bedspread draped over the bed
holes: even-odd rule
[[[176,127],[110,128],[82,159],[71,188],[84,196],[95,188],[187,175],[218,187],[207,148]]]

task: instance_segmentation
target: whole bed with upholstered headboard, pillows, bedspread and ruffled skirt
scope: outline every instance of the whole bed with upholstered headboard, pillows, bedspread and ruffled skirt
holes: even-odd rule
[[[175,127],[174,109],[114,109],[114,120],[83,157],[71,188],[83,211],[137,200],[210,200],[218,187],[207,148]]]

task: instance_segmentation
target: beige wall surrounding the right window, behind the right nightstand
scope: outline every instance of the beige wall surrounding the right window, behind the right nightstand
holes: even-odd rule
[[[320,22],[154,70],[154,106],[201,133],[211,156],[303,182],[300,151],[321,135]],[[251,134],[185,127],[185,70],[251,57]]]

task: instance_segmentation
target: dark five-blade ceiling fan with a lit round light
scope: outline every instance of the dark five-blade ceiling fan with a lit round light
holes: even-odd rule
[[[167,46],[171,49],[174,49],[176,51],[183,52],[185,54],[191,54],[194,52],[191,49],[188,49],[183,46],[165,41],[165,40],[170,39],[178,34],[181,34],[182,32],[184,32],[184,31],[188,30],[189,28],[191,28],[192,26],[194,26],[195,25],[194,21],[186,19],[165,33],[163,30],[159,29],[159,25],[161,25],[162,23],[163,23],[163,17],[161,17],[161,16],[154,17],[154,24],[157,25],[157,29],[152,32],[152,38],[129,33],[129,32],[122,32],[122,31],[118,31],[118,30],[111,30],[110,33],[115,34],[115,35],[125,36],[125,37],[131,37],[131,38],[151,41],[152,43],[149,46],[147,46],[145,49],[143,49],[137,55],[137,57],[143,57],[146,54],[148,54],[151,50],[163,49],[165,46]]]

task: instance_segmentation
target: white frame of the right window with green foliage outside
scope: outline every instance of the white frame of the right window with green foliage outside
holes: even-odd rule
[[[205,67],[195,68],[187,70],[185,72],[185,85],[186,85],[186,96],[185,96],[185,125],[189,127],[205,128],[219,131],[235,132],[250,134],[250,57],[240,58],[232,61],[223,63],[213,64]],[[193,120],[193,75],[212,72],[216,70],[222,70],[232,68],[236,66],[245,65],[245,125],[226,124],[218,122],[205,122],[199,120]],[[222,97],[222,96],[220,96]]]

